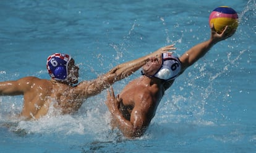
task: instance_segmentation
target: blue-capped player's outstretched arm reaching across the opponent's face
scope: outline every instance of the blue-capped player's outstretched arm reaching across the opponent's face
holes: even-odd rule
[[[95,80],[83,81],[79,84],[79,88],[83,89],[83,92],[85,92],[85,97],[94,96],[103,91],[103,89],[106,89],[110,85],[113,85],[114,82],[122,80],[123,78],[126,78],[135,71],[139,70],[140,67],[146,64],[150,57],[174,49],[176,49],[174,48],[174,45],[165,46],[151,54],[148,54],[147,56],[140,57],[139,59],[135,59],[124,64],[119,64],[116,67],[112,68],[108,73],[101,75]]]

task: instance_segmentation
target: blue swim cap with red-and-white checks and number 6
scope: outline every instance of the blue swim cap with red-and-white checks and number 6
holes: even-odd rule
[[[54,80],[66,80],[70,59],[72,59],[71,56],[62,53],[49,56],[46,66],[50,77]]]

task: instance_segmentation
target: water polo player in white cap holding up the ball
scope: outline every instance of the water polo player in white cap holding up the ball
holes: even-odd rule
[[[162,56],[151,57],[147,64],[143,65],[142,77],[130,81],[117,97],[111,88],[108,91],[106,105],[113,117],[113,127],[119,128],[127,138],[142,136],[155,116],[166,89],[213,45],[231,36],[226,31],[227,28],[218,34],[211,26],[210,39],[195,45],[179,58],[165,53]]]

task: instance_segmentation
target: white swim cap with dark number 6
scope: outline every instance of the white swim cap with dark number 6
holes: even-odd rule
[[[162,57],[163,64],[153,77],[160,78],[164,81],[173,80],[181,72],[181,61],[168,52],[164,52]]]

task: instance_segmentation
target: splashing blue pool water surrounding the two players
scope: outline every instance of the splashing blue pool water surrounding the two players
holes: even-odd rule
[[[1,96],[0,152],[256,152],[255,0],[1,0],[0,81],[48,79],[54,52],[74,57],[80,81],[167,44],[181,56],[209,38],[208,16],[218,6],[237,11],[235,35],[176,79],[142,138],[111,130],[106,91],[77,114],[51,109],[36,121],[15,118],[22,96]],[[115,92],[139,75],[117,82]]]

